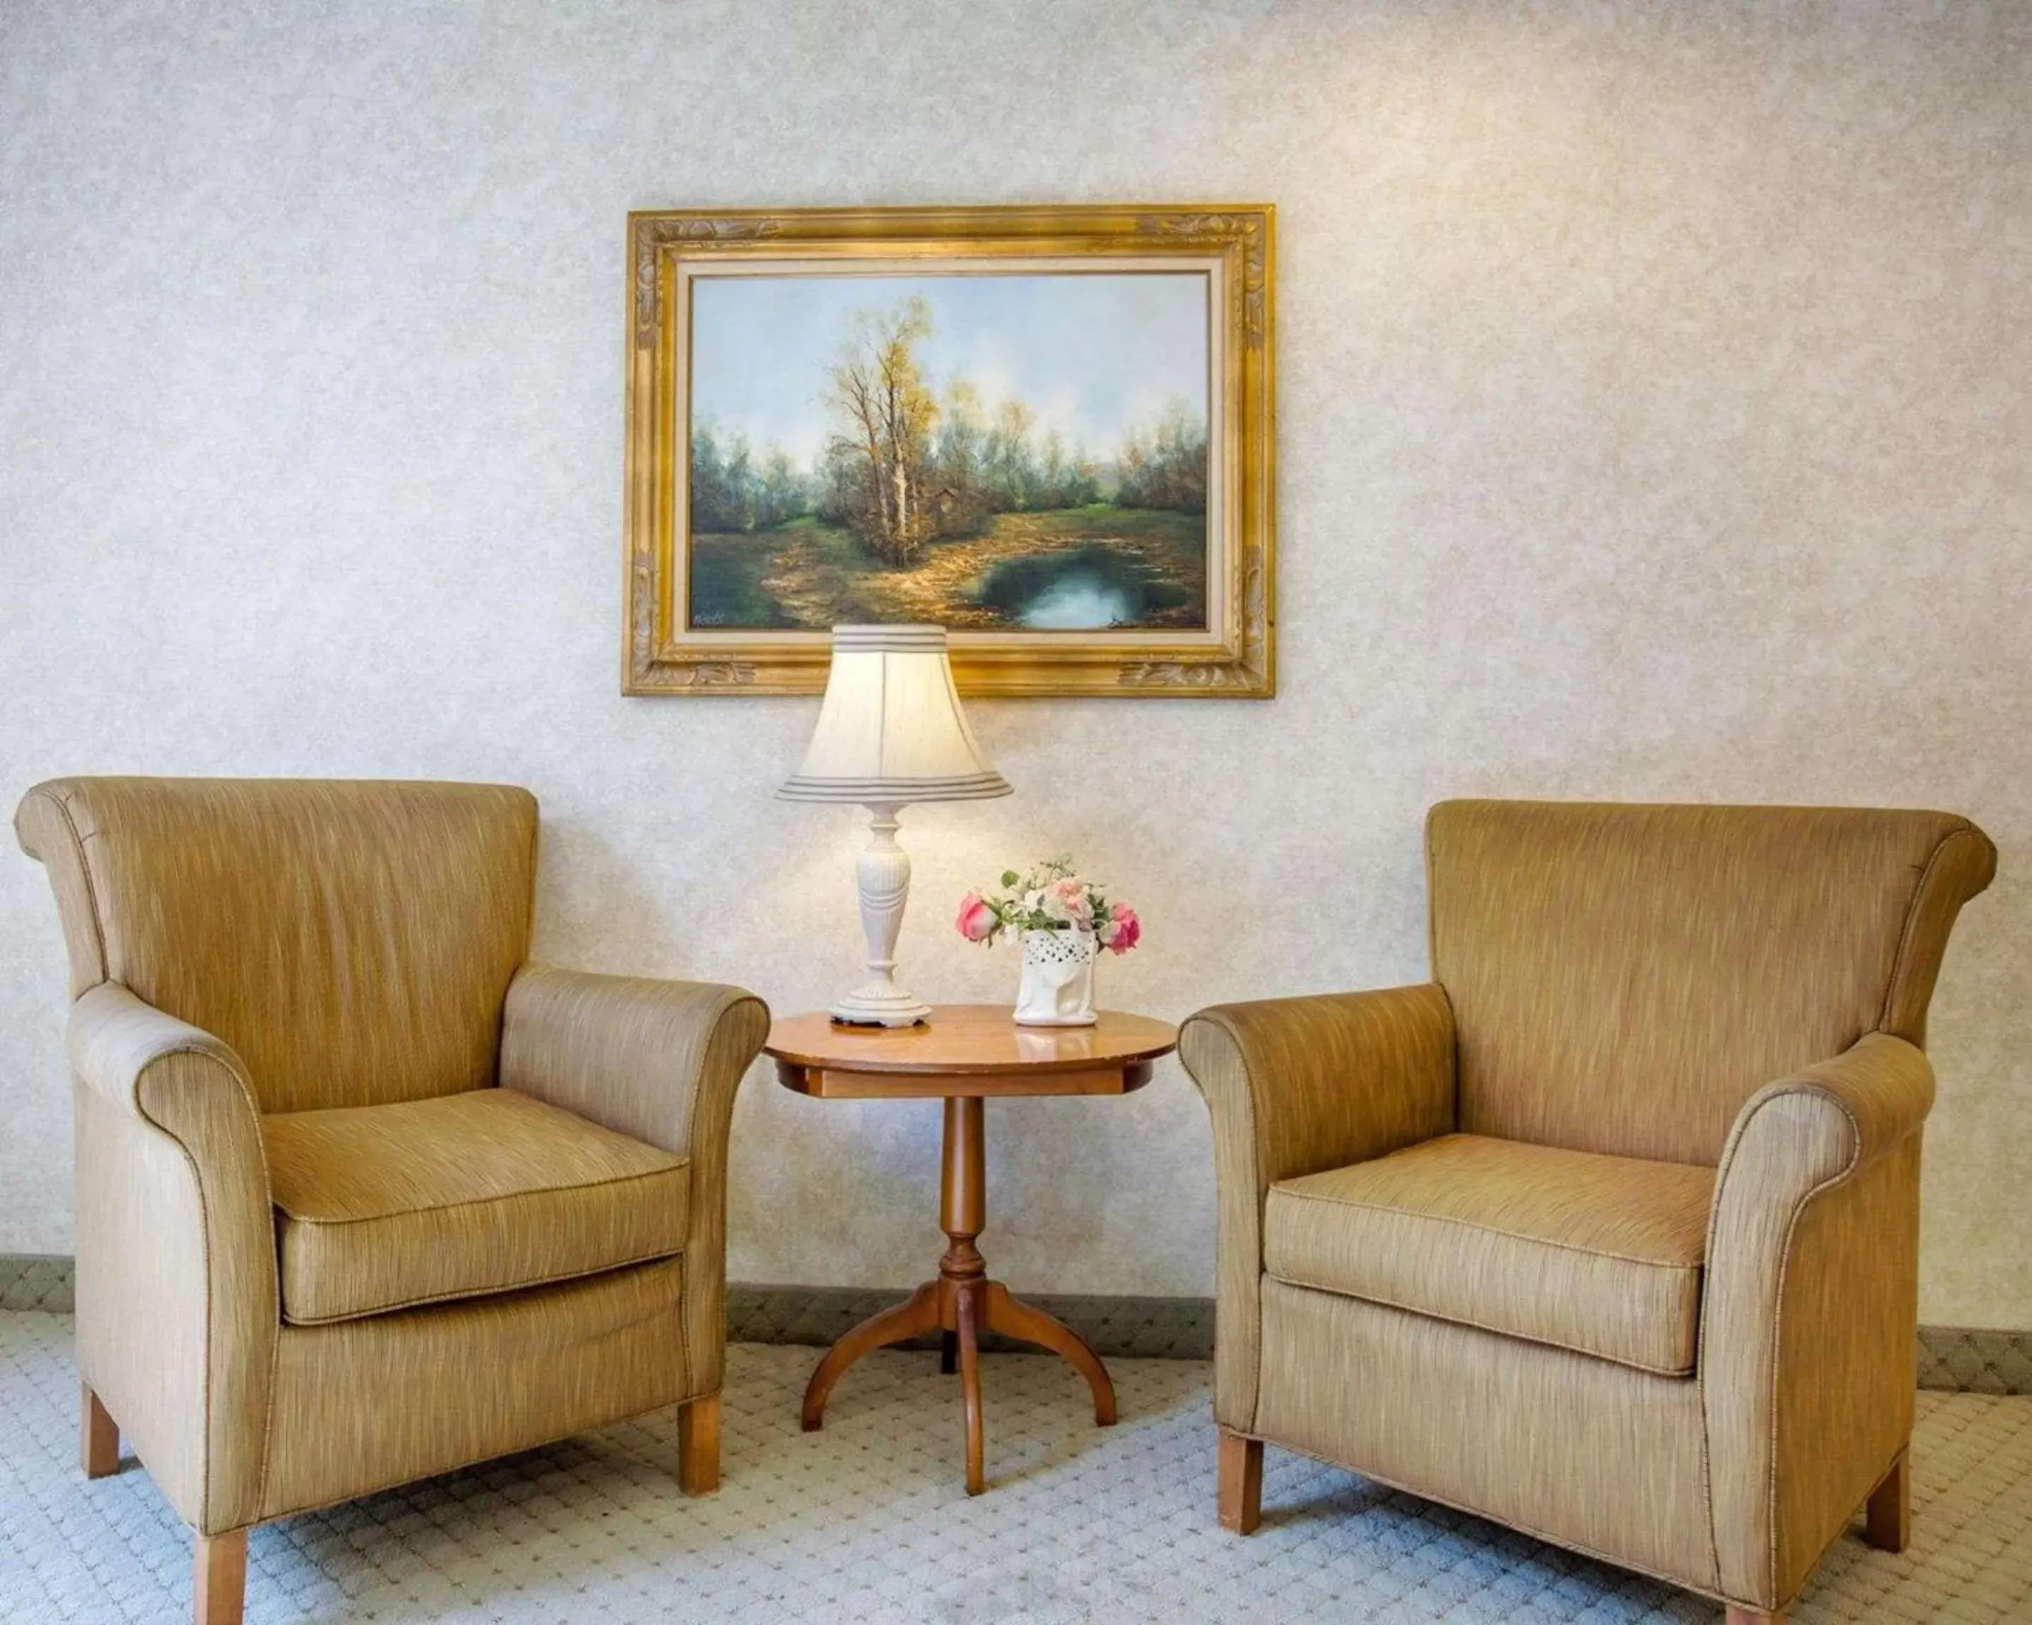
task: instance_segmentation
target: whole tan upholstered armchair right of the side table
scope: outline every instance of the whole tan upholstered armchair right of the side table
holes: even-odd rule
[[[1433,981],[1205,1010],[1221,1521],[1262,1442],[1778,1621],[1906,1538],[1941,812],[1447,802]]]

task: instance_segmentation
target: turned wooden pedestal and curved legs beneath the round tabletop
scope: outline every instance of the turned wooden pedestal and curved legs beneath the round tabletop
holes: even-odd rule
[[[979,1341],[1000,1332],[1063,1355],[1093,1389],[1093,1420],[1116,1420],[1116,1385],[1085,1341],[1063,1320],[1016,1298],[1002,1282],[988,1280],[988,1261],[973,1245],[988,1223],[986,1138],[981,1097],[945,1101],[945,1190],[939,1225],[947,1237],[937,1280],[925,1282],[906,1302],[872,1314],[835,1343],[805,1387],[805,1432],[825,1424],[825,1400],[862,1355],[929,1332],[943,1335],[941,1365],[959,1367],[959,1393],[967,1416],[967,1495],[988,1487],[983,1475]]]

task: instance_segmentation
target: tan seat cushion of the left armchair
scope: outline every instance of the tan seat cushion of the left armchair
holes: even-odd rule
[[[691,1164],[514,1089],[262,1117],[282,1318],[512,1292],[671,1257]]]

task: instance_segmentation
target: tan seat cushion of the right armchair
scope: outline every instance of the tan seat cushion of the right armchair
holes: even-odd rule
[[[1290,1286],[1689,1375],[1715,1170],[1449,1133],[1270,1186]]]

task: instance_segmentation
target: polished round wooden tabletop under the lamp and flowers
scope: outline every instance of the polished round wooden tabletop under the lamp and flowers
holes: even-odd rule
[[[1006,1003],[941,1003],[914,1028],[849,1028],[825,1012],[784,1016],[764,1046],[786,1089],[821,1099],[1126,1095],[1150,1081],[1179,1030],[1099,1012],[1091,1028],[1016,1026]]]

